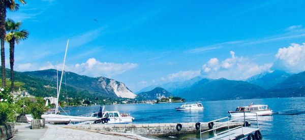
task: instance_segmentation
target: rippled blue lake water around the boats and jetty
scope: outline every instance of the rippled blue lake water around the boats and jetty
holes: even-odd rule
[[[227,117],[228,111],[235,110],[237,106],[248,106],[251,102],[267,104],[275,113],[272,116],[263,116],[259,119],[264,139],[305,138],[305,97],[201,101],[204,107],[203,111],[176,111],[174,109],[184,103],[118,104],[105,106],[105,110],[130,113],[135,118],[133,123],[207,122]],[[71,115],[82,115],[99,111],[99,106],[73,107],[70,110]],[[208,138],[210,135],[202,136]],[[198,138],[200,138],[199,134],[185,134],[176,136],[175,139]]]

